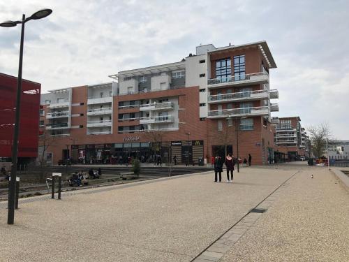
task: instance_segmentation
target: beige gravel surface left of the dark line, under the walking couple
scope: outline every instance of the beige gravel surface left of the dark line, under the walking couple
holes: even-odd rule
[[[20,203],[13,226],[3,206],[0,261],[191,261],[295,172],[244,168],[233,184],[209,173]]]

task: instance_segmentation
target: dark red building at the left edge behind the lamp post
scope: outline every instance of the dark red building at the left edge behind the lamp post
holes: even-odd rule
[[[22,80],[18,163],[29,163],[38,155],[38,131],[41,85]],[[15,124],[17,78],[0,73],[0,161],[10,162]]]

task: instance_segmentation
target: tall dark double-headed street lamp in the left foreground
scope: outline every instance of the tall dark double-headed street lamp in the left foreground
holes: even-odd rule
[[[18,135],[20,131],[20,100],[22,94],[22,64],[23,64],[23,42],[24,42],[24,24],[29,20],[38,20],[47,17],[52,13],[51,9],[38,10],[30,17],[26,18],[22,15],[22,21],[6,21],[0,24],[0,27],[15,27],[17,24],[22,24],[21,41],[20,41],[20,62],[18,66],[17,79],[17,96],[16,96],[16,114],[15,128],[13,130],[13,146],[12,146],[12,167],[10,183],[8,184],[8,217],[7,224],[12,225],[15,220],[15,187],[17,177],[17,156],[18,156]]]

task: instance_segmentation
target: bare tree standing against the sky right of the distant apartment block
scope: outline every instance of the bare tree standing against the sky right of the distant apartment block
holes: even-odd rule
[[[310,126],[308,132],[311,140],[311,151],[316,158],[322,157],[326,150],[326,140],[331,136],[331,131],[327,123],[318,126]]]

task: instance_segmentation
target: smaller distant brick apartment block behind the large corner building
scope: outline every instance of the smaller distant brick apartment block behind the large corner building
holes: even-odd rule
[[[310,140],[300,117],[280,117],[274,133],[276,152],[285,154],[285,159],[309,157]]]

